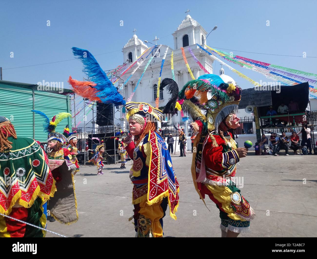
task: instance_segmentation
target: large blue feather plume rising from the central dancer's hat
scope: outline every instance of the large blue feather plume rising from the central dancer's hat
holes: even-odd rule
[[[114,105],[125,105],[126,101],[123,96],[118,93],[116,87],[109,80],[106,73],[101,69],[94,56],[85,49],[73,47],[73,54],[81,60],[84,65],[83,72],[88,76],[89,81],[96,83],[94,88],[98,91],[96,96],[100,98],[103,103]]]

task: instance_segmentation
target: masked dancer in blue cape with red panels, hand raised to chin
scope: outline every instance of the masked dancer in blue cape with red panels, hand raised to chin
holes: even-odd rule
[[[126,146],[133,157],[130,179],[134,215],[129,220],[134,219],[136,237],[163,237],[167,204],[171,218],[176,219],[179,185],[165,142],[154,122],[146,118],[160,120],[162,111],[143,102],[128,102],[125,107],[129,120],[144,125],[142,132]]]

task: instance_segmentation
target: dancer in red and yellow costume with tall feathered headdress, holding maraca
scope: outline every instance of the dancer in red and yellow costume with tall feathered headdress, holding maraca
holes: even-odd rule
[[[194,95],[198,99],[192,99]],[[216,203],[221,230],[249,231],[254,212],[231,179],[240,158],[236,142],[228,132],[238,124],[234,113],[241,99],[241,89],[224,83],[217,75],[206,74],[186,83],[178,97],[184,98],[182,108],[195,120],[192,126],[198,133],[191,171],[200,198],[207,194]]]

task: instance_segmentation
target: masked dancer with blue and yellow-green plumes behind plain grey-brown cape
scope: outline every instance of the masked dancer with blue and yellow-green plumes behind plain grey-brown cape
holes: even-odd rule
[[[67,139],[63,134],[55,132],[56,126],[61,120],[71,117],[69,113],[59,113],[52,120],[42,112],[33,110],[45,119],[44,131],[48,133],[47,156],[49,167],[56,180],[57,191],[47,204],[50,216],[58,222],[66,225],[73,224],[78,220],[77,200],[74,184],[74,170],[76,164],[67,148],[63,148]]]

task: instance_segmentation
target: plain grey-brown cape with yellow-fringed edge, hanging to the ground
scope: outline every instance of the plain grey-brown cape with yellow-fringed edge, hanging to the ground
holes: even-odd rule
[[[49,215],[58,222],[70,225],[78,220],[77,200],[74,187],[75,168],[69,168],[68,160],[49,159],[49,167],[56,179],[57,192],[47,205]]]

